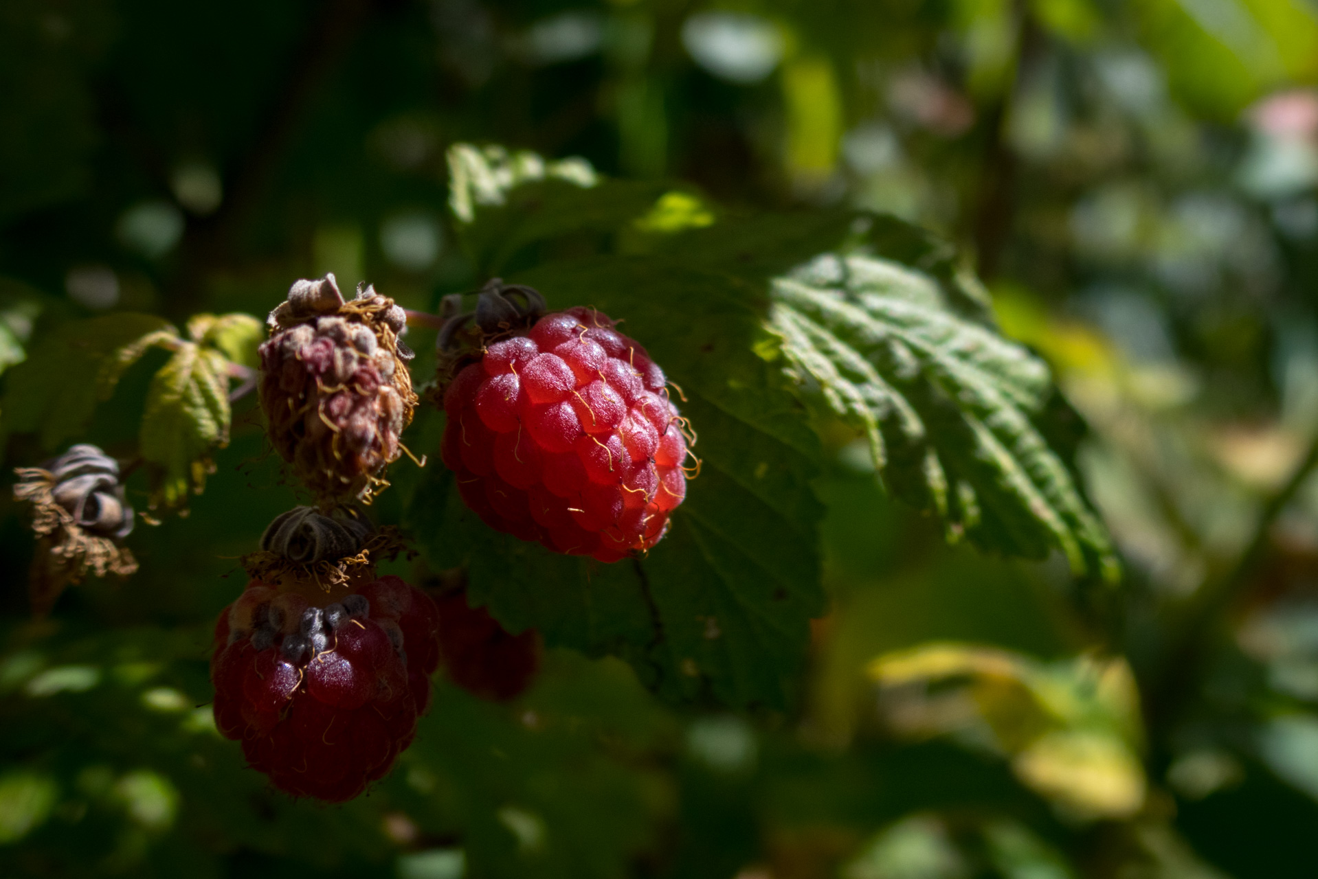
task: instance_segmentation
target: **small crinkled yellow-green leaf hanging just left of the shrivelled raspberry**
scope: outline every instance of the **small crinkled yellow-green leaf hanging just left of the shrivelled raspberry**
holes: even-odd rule
[[[179,507],[214,472],[211,452],[229,441],[229,361],[181,343],[152,380],[138,448],[152,472],[152,509]]]

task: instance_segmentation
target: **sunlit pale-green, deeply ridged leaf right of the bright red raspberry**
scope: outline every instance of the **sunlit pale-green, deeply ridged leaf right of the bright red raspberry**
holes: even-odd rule
[[[1073,571],[1115,579],[1102,525],[1036,424],[1048,368],[975,319],[974,287],[949,278],[822,256],[774,281],[768,327],[789,374],[865,431],[895,494],[977,546],[1058,547]]]

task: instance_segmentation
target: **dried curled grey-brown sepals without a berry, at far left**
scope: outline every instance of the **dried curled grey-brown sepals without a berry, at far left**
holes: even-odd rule
[[[28,582],[32,611],[50,613],[70,584],[88,573],[125,577],[137,560],[123,539],[133,530],[119,463],[95,445],[79,444],[41,467],[16,468],[16,501],[33,505],[37,552]]]

